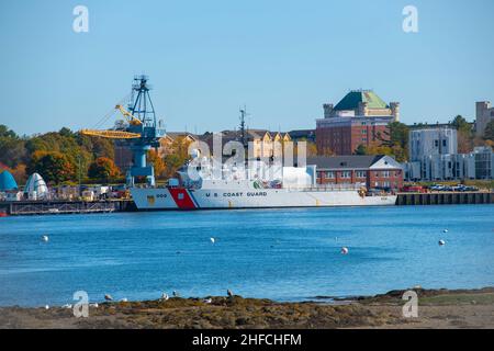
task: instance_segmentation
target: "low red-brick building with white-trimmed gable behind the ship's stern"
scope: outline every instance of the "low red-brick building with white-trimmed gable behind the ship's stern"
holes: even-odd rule
[[[403,188],[402,166],[390,156],[317,156],[307,158],[316,165],[318,184],[358,184],[367,189],[398,190]]]

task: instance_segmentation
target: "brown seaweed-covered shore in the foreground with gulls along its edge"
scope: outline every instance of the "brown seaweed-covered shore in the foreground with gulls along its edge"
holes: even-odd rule
[[[482,290],[415,290],[418,317],[404,318],[401,297],[392,291],[333,303],[277,303],[233,297],[102,303],[88,318],[71,308],[0,308],[0,328],[494,328],[494,287]]]

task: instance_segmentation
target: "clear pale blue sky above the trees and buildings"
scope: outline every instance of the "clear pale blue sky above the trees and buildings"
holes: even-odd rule
[[[89,33],[72,31],[77,4]],[[405,123],[473,120],[494,100],[493,13],[492,0],[2,1],[0,124],[92,127],[142,72],[169,131],[233,128],[244,104],[250,127],[314,128],[359,88],[400,101]]]

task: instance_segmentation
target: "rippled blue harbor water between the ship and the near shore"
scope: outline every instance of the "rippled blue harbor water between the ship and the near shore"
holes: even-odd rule
[[[415,285],[494,286],[493,205],[0,218],[1,306],[74,303],[77,291],[305,301]]]

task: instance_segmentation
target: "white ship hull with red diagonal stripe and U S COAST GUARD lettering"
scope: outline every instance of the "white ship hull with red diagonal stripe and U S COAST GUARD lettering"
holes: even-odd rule
[[[138,210],[390,206],[396,195],[361,196],[356,190],[133,188]]]

